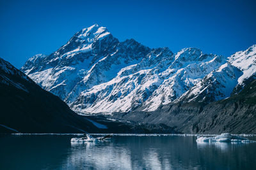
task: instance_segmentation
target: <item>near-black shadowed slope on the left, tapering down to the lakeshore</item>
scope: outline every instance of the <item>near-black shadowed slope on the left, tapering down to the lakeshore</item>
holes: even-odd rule
[[[174,133],[167,125],[138,125],[81,116],[0,58],[0,133]],[[100,129],[92,122],[106,125]]]

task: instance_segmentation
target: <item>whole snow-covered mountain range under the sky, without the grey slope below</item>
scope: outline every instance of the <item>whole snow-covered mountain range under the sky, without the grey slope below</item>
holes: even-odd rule
[[[173,101],[229,97],[256,72],[255,52],[252,46],[227,58],[198,48],[150,49],[134,39],[120,42],[95,24],[51,55],[31,57],[21,70],[78,112],[154,111]]]

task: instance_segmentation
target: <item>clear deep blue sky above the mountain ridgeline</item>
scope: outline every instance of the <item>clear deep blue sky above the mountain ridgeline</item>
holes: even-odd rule
[[[0,57],[20,68],[93,24],[107,27],[120,41],[134,38],[173,52],[193,46],[228,56],[256,44],[255,9],[255,1],[244,0],[0,0]]]

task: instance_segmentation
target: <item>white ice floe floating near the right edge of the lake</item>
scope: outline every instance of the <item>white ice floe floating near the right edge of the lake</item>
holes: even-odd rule
[[[197,143],[211,143],[211,142],[225,142],[225,143],[252,143],[256,141],[251,141],[247,138],[243,138],[241,136],[236,136],[234,134],[223,133],[221,135],[215,137],[198,137],[196,139]]]

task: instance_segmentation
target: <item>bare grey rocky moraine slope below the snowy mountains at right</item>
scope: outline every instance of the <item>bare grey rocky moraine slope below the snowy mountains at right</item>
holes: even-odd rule
[[[183,133],[256,133],[256,80],[234,96],[214,103],[167,104],[146,113],[115,113],[118,119],[141,124],[165,124]]]

